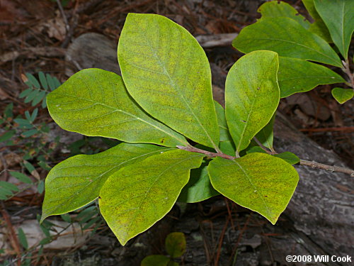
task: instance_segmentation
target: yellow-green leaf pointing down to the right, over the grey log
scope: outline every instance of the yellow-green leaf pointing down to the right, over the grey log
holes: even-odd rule
[[[208,171],[212,186],[241,206],[275,224],[295,191],[299,175],[292,165],[264,153],[235,160],[217,157]]]

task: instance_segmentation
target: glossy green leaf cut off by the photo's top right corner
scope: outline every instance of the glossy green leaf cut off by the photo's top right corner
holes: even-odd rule
[[[314,0],[314,6],[329,29],[333,43],[347,59],[354,31],[354,1]]]

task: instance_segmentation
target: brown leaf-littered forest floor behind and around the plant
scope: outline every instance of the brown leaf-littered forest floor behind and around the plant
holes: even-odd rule
[[[48,170],[67,157],[98,153],[116,142],[67,133],[53,123],[47,109],[42,107],[45,93],[33,93],[33,99],[23,96],[28,89],[26,73],[37,79],[39,72],[49,74],[48,81],[51,79],[55,84],[69,77],[68,69],[77,70],[65,55],[72,40],[80,35],[101,33],[117,44],[129,12],[159,13],[195,36],[219,35],[239,33],[241,28],[254,23],[260,17],[257,9],[262,3],[259,0],[0,0],[0,118],[4,119],[0,125],[0,182],[15,180],[18,187],[6,200],[1,199],[0,263],[139,265],[146,255],[164,253],[164,238],[168,233],[182,231],[189,235],[190,242],[181,265],[280,265],[268,254],[269,250],[254,250],[260,239],[246,238],[251,231],[262,231],[265,219],[221,197],[188,206],[177,204],[164,221],[125,248],[105,225],[95,203],[70,216],[56,217],[55,225],[48,222],[39,226],[43,181]],[[301,1],[287,3],[306,16]],[[242,55],[231,45],[205,51],[223,76]],[[222,85],[219,87],[223,89]],[[331,96],[332,87],[319,86],[282,99],[279,109],[299,131],[354,167],[353,100],[338,104]],[[23,123],[32,126],[26,128]],[[11,172],[25,175],[20,177],[21,184],[16,183]],[[181,221],[174,223],[176,220]],[[272,233],[263,233],[267,234]],[[276,229],[273,234],[277,234]],[[203,241],[203,235],[212,235],[213,240]],[[246,262],[237,255],[250,250],[254,252],[248,253]],[[253,263],[252,254],[256,253],[267,253],[261,256],[267,259],[263,262],[254,259]],[[192,261],[188,256],[195,257],[194,264],[187,263]]]

